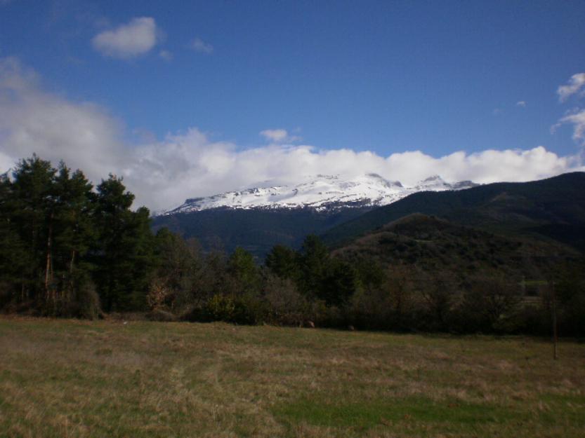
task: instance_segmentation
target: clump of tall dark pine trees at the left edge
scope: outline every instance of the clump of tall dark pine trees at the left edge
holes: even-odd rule
[[[145,306],[153,236],[148,210],[133,212],[133,198],[112,175],[96,193],[65,163],[20,160],[0,180],[4,306],[96,315],[96,294],[106,311]]]

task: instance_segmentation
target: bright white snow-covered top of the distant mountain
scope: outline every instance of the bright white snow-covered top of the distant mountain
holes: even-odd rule
[[[471,181],[449,184],[438,175],[407,187],[375,173],[353,178],[320,174],[296,185],[265,184],[254,189],[188,199],[183,205],[162,214],[198,212],[218,207],[244,210],[313,207],[319,211],[345,207],[381,206],[394,203],[418,191],[461,190],[477,185]]]

